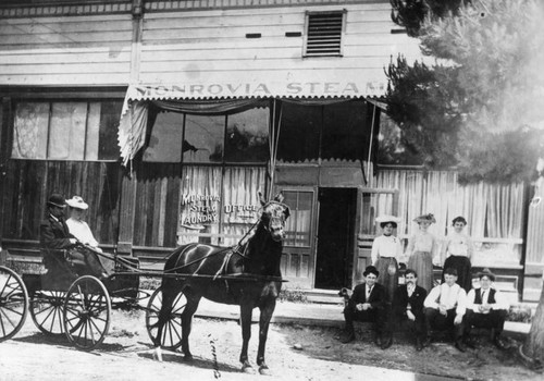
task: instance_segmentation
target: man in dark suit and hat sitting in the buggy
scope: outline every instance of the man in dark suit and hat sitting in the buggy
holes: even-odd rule
[[[40,223],[40,246],[49,278],[60,280],[73,273],[66,259],[73,262],[78,275],[106,278],[107,273],[100,262],[97,263],[85,251],[74,249],[78,242],[70,233],[64,221],[64,197],[51,195],[47,201],[48,216]]]

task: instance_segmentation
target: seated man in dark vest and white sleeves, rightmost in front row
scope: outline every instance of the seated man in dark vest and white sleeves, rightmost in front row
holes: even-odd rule
[[[470,340],[472,327],[489,328],[492,330],[492,341],[495,346],[504,349],[505,345],[500,341],[500,333],[505,325],[506,315],[510,308],[504,295],[492,287],[495,282],[495,274],[489,269],[478,273],[480,278],[480,288],[472,288],[467,296],[467,314],[465,315],[465,342],[473,347]]]

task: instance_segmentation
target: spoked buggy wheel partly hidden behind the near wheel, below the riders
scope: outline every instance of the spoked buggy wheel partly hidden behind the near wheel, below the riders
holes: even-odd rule
[[[64,334],[64,292],[37,291],[30,298],[30,316],[36,327],[49,335]]]

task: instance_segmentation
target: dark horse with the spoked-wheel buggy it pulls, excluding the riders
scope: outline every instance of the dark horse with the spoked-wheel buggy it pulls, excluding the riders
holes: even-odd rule
[[[159,351],[182,348],[191,358],[188,336],[193,316],[201,297],[239,305],[243,331],[240,362],[251,371],[247,351],[251,317],[260,309],[257,364],[261,372],[264,345],[276,297],[285,221],[289,209],[277,195],[261,199],[262,213],[246,236],[233,247],[188,244],[166,258],[163,271],[143,271],[132,257],[103,254],[85,245],[110,269],[102,279],[83,274],[70,261],[45,274],[23,274],[0,267],[0,342],[13,337],[28,312],[36,327],[50,335],[65,335],[76,347],[99,346],[110,328],[112,308],[145,309],[146,328]],[[162,280],[151,295],[139,288],[140,276]]]

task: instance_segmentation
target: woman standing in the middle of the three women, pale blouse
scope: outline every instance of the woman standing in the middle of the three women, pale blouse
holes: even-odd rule
[[[429,226],[435,223],[433,214],[423,214],[413,220],[419,230],[408,241],[408,269],[419,274],[419,284],[428,292],[433,288],[433,258],[438,245],[436,237],[428,232]]]

